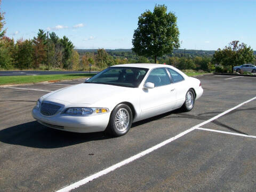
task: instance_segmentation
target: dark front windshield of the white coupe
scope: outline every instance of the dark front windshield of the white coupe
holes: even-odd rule
[[[84,83],[138,87],[147,71],[148,69],[137,67],[109,67]]]

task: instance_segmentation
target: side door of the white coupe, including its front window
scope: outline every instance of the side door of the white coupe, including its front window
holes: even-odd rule
[[[141,119],[159,115],[174,109],[176,91],[165,68],[155,68],[150,71],[144,85],[154,83],[153,89],[141,88],[140,107]]]

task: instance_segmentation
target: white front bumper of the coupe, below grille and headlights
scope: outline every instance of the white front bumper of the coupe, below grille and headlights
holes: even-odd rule
[[[71,116],[58,112],[54,116],[44,116],[37,108],[32,110],[32,116],[41,124],[53,129],[91,133],[104,131],[108,125],[110,112],[92,116]]]

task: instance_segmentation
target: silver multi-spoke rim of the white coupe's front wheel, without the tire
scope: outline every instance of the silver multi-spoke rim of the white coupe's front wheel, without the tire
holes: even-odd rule
[[[129,111],[125,108],[121,108],[117,111],[115,116],[115,126],[118,131],[125,131],[129,126],[130,115]]]

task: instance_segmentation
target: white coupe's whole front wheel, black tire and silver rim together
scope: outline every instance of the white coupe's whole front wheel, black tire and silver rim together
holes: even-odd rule
[[[125,104],[117,105],[111,112],[107,133],[115,137],[125,135],[132,125],[132,110]]]

